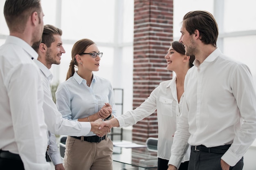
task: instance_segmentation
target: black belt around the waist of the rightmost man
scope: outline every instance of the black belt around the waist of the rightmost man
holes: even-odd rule
[[[231,145],[223,145],[223,146],[216,146],[207,148],[204,145],[199,146],[191,146],[191,150],[193,151],[202,151],[202,152],[209,152],[209,153],[217,153],[217,154],[225,154]]]

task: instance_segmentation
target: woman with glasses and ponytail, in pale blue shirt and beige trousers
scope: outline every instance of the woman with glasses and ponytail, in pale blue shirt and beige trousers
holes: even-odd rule
[[[59,84],[56,91],[56,106],[64,118],[95,121],[114,117],[112,85],[92,73],[99,71],[102,55],[92,40],[82,39],[74,44],[66,81]],[[87,136],[68,136],[65,146],[65,170],[112,170],[113,144],[107,134],[98,137],[90,132]]]

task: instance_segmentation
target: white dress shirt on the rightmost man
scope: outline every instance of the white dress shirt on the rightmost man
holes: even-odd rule
[[[249,68],[217,48],[202,64],[194,61],[184,83],[184,104],[169,164],[177,166],[188,141],[206,147],[231,144],[222,156],[230,166],[256,137],[256,95]],[[176,140],[177,139],[177,140]]]

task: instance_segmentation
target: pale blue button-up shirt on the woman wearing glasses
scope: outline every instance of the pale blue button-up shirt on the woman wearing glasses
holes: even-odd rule
[[[64,118],[73,121],[97,113],[105,103],[112,106],[112,114],[115,116],[114,97],[113,88],[107,79],[93,75],[92,83],[88,87],[86,80],[75,72],[72,77],[58,85],[56,106]],[[83,136],[94,135],[90,132]]]

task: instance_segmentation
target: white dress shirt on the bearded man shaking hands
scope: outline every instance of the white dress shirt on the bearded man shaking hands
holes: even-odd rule
[[[91,130],[90,122],[70,121],[64,119],[58,111],[54,101],[52,100],[52,93],[50,82],[53,75],[51,71],[40,61],[34,60],[41,70],[43,77],[43,90],[44,90],[44,104],[43,110],[45,113],[45,123],[51,132],[49,134],[49,150],[48,155],[54,165],[62,163],[61,155],[56,144],[56,137],[54,134],[83,136],[87,135]],[[54,133],[54,134],[52,134]]]

